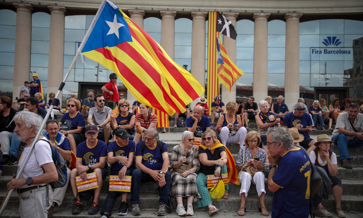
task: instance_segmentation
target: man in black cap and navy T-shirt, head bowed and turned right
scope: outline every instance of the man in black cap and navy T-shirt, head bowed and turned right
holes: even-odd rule
[[[125,175],[131,175],[135,169],[134,154],[135,142],[129,140],[130,134],[126,129],[119,128],[115,131],[116,141],[108,146],[108,162],[111,164],[111,174],[118,175],[122,179]],[[132,179],[131,179],[132,181]],[[118,207],[118,215],[127,215],[127,194],[124,191],[109,191],[101,209],[101,215],[104,217],[111,216],[116,198],[122,195],[121,204]]]

